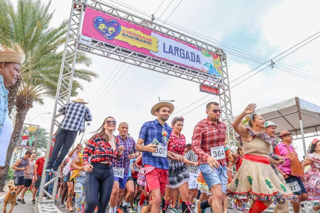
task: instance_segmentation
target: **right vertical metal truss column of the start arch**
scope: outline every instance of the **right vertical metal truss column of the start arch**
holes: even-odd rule
[[[230,84],[229,84],[229,75],[228,75],[228,65],[227,58],[225,55],[220,54],[221,62],[221,73],[223,78],[223,86],[221,87],[223,94],[220,94],[220,106],[222,109],[222,121],[226,122],[227,125],[227,137],[229,139],[228,146],[236,150],[236,137],[235,131],[232,127],[233,114],[232,114],[232,105],[231,105],[231,94],[230,94]]]

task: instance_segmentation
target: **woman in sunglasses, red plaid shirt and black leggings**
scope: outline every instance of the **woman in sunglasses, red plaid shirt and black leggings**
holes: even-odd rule
[[[118,161],[124,146],[119,146],[119,141],[113,135],[116,121],[107,117],[101,127],[93,132],[83,152],[85,180],[85,207],[84,212],[93,213],[98,206],[97,213],[105,213],[110,200],[113,187],[113,161]],[[91,164],[88,161],[91,156]]]

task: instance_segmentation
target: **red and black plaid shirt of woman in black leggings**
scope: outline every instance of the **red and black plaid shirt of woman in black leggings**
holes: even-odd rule
[[[109,165],[114,160],[119,161],[120,156],[118,155],[119,140],[114,136],[116,140],[116,150],[112,151],[111,145],[102,137],[96,137],[89,140],[85,147],[82,155],[84,164],[89,163],[88,159],[91,156],[91,162],[99,163],[103,161],[109,161]],[[113,143],[113,142],[111,142]]]

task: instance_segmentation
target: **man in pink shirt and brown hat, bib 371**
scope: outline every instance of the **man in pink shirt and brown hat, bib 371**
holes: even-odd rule
[[[282,143],[277,145],[275,153],[285,159],[284,164],[279,165],[280,173],[283,175],[287,187],[293,194],[299,196],[299,201],[306,201],[308,200],[308,193],[300,178],[304,176],[304,172],[298,154],[291,145],[292,133],[284,130],[280,132],[278,137],[282,139]],[[292,207],[293,212],[298,213],[300,211],[300,202],[292,202]]]

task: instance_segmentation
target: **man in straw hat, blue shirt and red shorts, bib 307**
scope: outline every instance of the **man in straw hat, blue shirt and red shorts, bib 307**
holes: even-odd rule
[[[146,190],[152,196],[152,201],[148,206],[141,209],[138,205],[139,213],[159,213],[161,199],[167,184],[168,158],[173,159],[173,156],[167,153],[167,143],[172,129],[166,123],[173,110],[174,106],[169,102],[156,103],[151,108],[151,114],[157,117],[156,120],[145,122],[139,133],[136,149],[142,152],[143,168],[140,169],[140,174],[145,176]],[[177,159],[175,158],[175,160]]]

